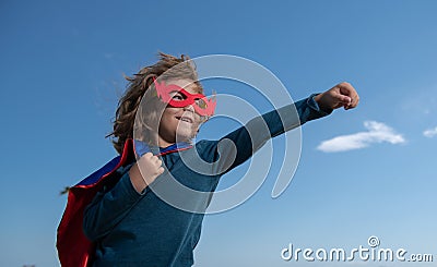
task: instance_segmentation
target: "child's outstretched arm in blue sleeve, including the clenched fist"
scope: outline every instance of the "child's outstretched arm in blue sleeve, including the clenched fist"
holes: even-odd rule
[[[358,101],[355,88],[349,83],[341,83],[322,94],[311,95],[306,99],[257,117],[217,142],[218,148],[215,148],[213,159],[214,172],[227,172],[243,163],[271,137],[328,116],[333,109],[355,108]],[[227,141],[220,145],[225,139],[232,143]]]

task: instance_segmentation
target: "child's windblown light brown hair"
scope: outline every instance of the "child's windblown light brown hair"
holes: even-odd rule
[[[119,154],[122,154],[126,141],[133,137],[137,111],[147,88],[154,86],[154,77],[191,80],[199,88],[199,93],[203,94],[203,88],[198,82],[196,65],[188,56],[181,54],[180,58],[176,58],[163,52],[158,56],[160,60],[155,64],[142,68],[133,76],[125,77],[128,81],[127,89],[118,102],[113,122],[114,131],[106,136],[113,136],[113,145]]]

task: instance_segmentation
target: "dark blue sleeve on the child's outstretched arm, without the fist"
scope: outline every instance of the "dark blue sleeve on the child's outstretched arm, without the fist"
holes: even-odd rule
[[[321,110],[314,96],[253,118],[246,125],[222,137],[216,147],[210,148],[215,150],[212,160],[215,161],[214,172],[232,170],[250,158],[270,138],[332,112]]]

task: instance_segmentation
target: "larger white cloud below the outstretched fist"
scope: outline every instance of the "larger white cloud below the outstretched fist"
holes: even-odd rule
[[[368,130],[367,132],[341,135],[332,139],[323,141],[317,149],[324,153],[336,153],[364,148],[374,143],[405,143],[401,134],[395,133],[393,129],[381,122],[365,121],[364,126]]]

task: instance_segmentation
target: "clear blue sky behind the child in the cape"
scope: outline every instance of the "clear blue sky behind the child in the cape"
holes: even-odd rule
[[[273,173],[245,204],[205,217],[196,266],[330,266],[280,252],[351,248],[370,235],[437,260],[436,11],[432,0],[2,1],[0,265],[59,265],[59,191],[116,156],[104,136],[122,75],[157,51],[248,58],[296,100],[343,81],[362,99],[303,126],[300,162],[281,197],[270,197]],[[210,129],[233,128],[215,120]],[[201,136],[214,131],[205,124]]]

